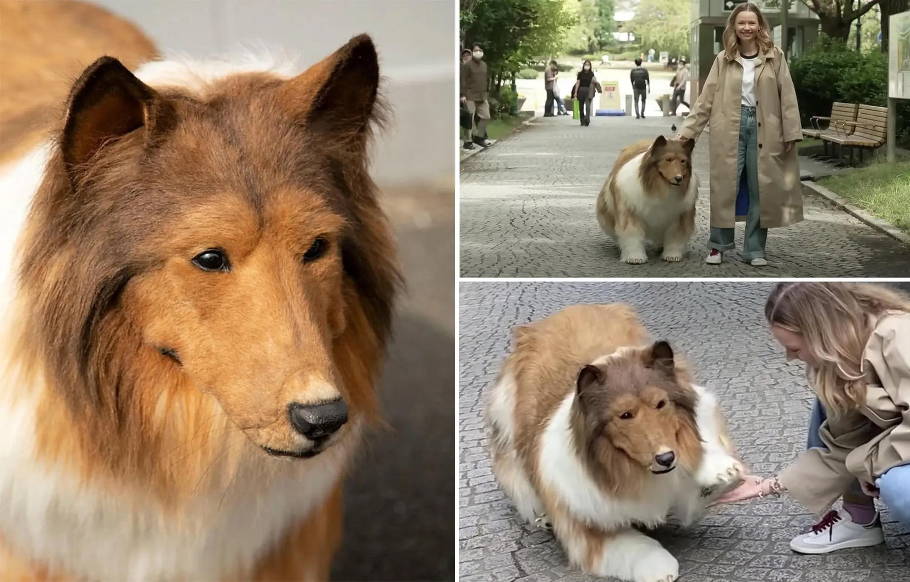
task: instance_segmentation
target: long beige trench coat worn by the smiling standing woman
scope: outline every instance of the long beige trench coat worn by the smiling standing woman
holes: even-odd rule
[[[735,216],[742,96],[743,65],[739,60],[728,61],[721,51],[679,130],[683,138],[697,140],[706,125],[710,128],[711,226],[721,229],[745,220]],[[755,119],[760,226],[774,229],[795,224],[803,220],[803,187],[796,148],[785,152],[784,142],[802,141],[803,129],[790,69],[777,46],[771,53],[760,53],[755,62]]]

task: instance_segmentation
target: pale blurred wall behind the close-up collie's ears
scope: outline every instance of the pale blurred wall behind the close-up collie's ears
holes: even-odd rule
[[[383,185],[454,179],[455,0],[94,0],[140,26],[167,56],[278,48],[300,69],[368,33],[392,125],[377,142]]]

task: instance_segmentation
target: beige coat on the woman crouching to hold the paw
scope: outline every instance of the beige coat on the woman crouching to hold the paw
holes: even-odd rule
[[[822,424],[828,451],[809,449],[778,475],[797,501],[819,515],[854,480],[875,484],[888,469],[910,463],[910,313],[878,320],[863,370],[869,378],[865,405]]]

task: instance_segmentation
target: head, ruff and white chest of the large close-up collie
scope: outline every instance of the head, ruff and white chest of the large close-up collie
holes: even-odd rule
[[[0,579],[329,577],[399,271],[375,47],[292,70],[98,58],[0,168]]]

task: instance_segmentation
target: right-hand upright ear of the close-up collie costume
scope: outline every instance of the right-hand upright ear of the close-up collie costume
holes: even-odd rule
[[[323,142],[361,150],[377,118],[379,57],[368,35],[310,66],[280,88],[281,103],[298,123],[326,135]]]

